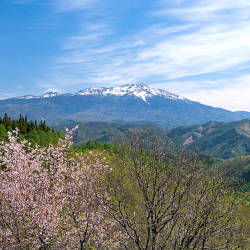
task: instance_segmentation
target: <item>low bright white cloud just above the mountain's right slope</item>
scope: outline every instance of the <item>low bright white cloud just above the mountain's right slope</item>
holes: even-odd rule
[[[190,100],[214,107],[250,111],[250,74],[213,81],[170,81],[153,87],[174,91]]]

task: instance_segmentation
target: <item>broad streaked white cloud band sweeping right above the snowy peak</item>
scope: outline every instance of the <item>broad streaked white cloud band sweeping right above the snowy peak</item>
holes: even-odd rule
[[[162,33],[164,29],[157,27],[154,32]],[[75,73],[87,68],[93,82],[100,75],[113,76],[114,81],[152,76],[169,80],[227,70],[248,62],[250,56],[248,23],[232,28],[205,27],[169,37],[159,35],[154,44],[144,31],[135,39],[125,39],[127,42],[100,46],[98,42],[105,35],[99,32],[70,38],[64,49],[73,51],[63,54],[60,67]]]

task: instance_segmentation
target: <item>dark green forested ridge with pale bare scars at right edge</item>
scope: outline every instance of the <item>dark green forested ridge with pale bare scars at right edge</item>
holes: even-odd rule
[[[168,136],[207,156],[228,159],[250,153],[250,120],[179,127],[169,131]]]

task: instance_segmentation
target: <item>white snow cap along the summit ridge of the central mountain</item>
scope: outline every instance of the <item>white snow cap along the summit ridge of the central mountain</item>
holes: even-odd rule
[[[77,95],[99,95],[99,96],[124,96],[132,95],[141,98],[143,101],[147,101],[147,98],[152,96],[161,96],[171,100],[186,100],[186,98],[172,94],[162,89],[153,89],[146,86],[143,83],[136,83],[132,85],[123,85],[121,87],[111,88],[87,88],[77,92]]]

